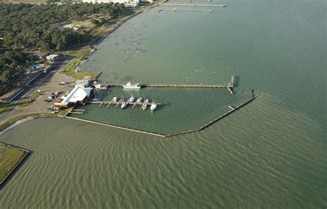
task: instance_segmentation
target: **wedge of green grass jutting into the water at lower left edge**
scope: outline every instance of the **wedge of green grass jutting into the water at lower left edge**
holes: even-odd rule
[[[25,155],[23,150],[0,143],[0,183]]]

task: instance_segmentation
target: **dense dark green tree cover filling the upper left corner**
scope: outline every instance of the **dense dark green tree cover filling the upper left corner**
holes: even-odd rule
[[[25,48],[64,50],[84,41],[86,34],[59,30],[56,24],[92,14],[116,15],[119,3],[46,4],[0,3],[0,94],[21,76],[23,66],[32,60]]]

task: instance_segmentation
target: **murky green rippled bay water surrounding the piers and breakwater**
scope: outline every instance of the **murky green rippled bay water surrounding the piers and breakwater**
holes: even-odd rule
[[[1,188],[1,208],[326,208],[326,1],[224,3],[212,12],[143,12],[81,68],[103,71],[110,83],[214,84],[235,73],[235,101],[224,90],[219,97],[239,103],[255,88],[255,101],[201,132],[166,139],[68,119],[22,123],[0,135],[32,150]],[[155,113],[170,108],[169,118],[188,120],[173,104]],[[150,113],[127,111],[141,120]],[[164,122],[160,130],[186,128]]]

